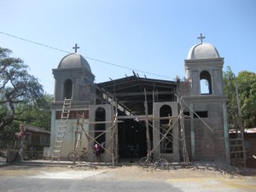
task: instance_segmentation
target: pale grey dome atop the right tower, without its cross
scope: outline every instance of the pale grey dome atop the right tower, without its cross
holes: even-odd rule
[[[218,50],[207,43],[195,44],[189,49],[188,60],[220,58]]]

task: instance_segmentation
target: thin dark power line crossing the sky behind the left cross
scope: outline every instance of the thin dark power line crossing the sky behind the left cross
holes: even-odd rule
[[[61,52],[65,52],[67,54],[71,54],[73,52],[70,52],[70,51],[67,51],[67,50],[63,50],[63,49],[58,49],[58,48],[55,48],[55,47],[51,47],[49,45],[46,45],[46,44],[40,44],[38,42],[35,42],[35,41],[32,41],[32,40],[28,40],[26,38],[20,38],[18,36],[15,36],[15,35],[11,35],[9,33],[6,33],[6,32],[1,32],[3,35],[6,35],[6,36],[9,36],[9,37],[12,37],[12,38],[18,38],[22,41],[26,41],[26,42],[29,42],[31,44],[38,44],[40,46],[43,46],[43,47],[46,47],[46,48],[49,48],[49,49],[55,49],[55,50],[58,50],[58,51],[61,51]],[[125,66],[121,66],[121,65],[118,65],[118,64],[114,64],[114,63],[111,63],[111,62],[107,62],[107,61],[101,61],[101,60],[98,60],[98,59],[94,59],[94,58],[91,58],[91,57],[88,57],[88,56],[84,56],[82,55],[84,58],[86,59],[89,59],[91,61],[97,61],[97,62],[102,62],[104,64],[108,64],[108,65],[112,65],[114,67],[121,67],[121,68],[125,68],[125,69],[129,69],[129,70],[132,70],[132,71],[136,71],[136,72],[139,72],[139,73],[146,73],[146,74],[151,74],[151,75],[155,75],[155,76],[159,76],[159,77],[162,77],[162,78],[168,78],[168,79],[174,79],[174,78],[170,78],[170,77],[167,77],[165,75],[160,75],[160,74],[156,74],[156,73],[149,73],[149,72],[144,72],[144,71],[141,71],[141,70],[138,70],[138,69],[134,69],[134,68],[131,68],[131,67],[125,67]]]

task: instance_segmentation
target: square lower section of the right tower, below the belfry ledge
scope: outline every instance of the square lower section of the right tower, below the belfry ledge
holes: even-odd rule
[[[224,96],[187,97],[189,118],[185,119],[186,142],[190,160],[229,160],[224,127]],[[190,100],[190,101],[189,101]],[[195,117],[194,112],[206,111],[206,118]]]

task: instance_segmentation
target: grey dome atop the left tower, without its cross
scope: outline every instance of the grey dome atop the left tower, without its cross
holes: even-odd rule
[[[58,66],[58,68],[73,68],[73,67],[84,67],[89,72],[91,72],[89,63],[84,59],[82,55],[79,55],[77,53],[64,56],[61,59],[61,62]]]

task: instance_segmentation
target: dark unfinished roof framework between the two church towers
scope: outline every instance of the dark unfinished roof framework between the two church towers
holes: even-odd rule
[[[177,93],[174,81],[139,78],[136,75],[103,82],[97,84],[97,88],[133,115],[145,114],[145,101],[148,114],[152,114],[154,102],[174,102],[174,94]]]

